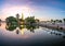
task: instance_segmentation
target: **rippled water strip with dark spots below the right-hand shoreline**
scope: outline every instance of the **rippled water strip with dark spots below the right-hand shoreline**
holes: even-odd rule
[[[49,32],[51,35],[56,35],[56,36],[61,36],[63,38],[65,38],[65,32],[64,31],[57,31],[57,30],[53,30],[53,28],[42,28],[46,32]]]

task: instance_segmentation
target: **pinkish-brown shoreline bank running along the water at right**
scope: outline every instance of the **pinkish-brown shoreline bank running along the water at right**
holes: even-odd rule
[[[48,28],[55,28],[55,30],[63,30],[65,31],[64,24],[46,24],[46,23],[39,23],[39,26],[48,27]]]

